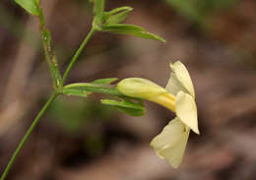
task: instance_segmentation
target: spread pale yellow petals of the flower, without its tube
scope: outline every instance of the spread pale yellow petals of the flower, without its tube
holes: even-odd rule
[[[170,68],[172,73],[165,89],[175,95],[177,117],[153,139],[151,147],[161,158],[167,159],[174,168],[177,168],[183,159],[190,128],[197,134],[199,130],[195,90],[189,73],[179,61],[170,64]]]

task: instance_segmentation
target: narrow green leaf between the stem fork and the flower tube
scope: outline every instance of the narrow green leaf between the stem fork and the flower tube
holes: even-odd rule
[[[80,95],[85,96],[85,94],[97,92],[104,94],[111,94],[115,96],[123,96],[118,90],[113,88],[112,86],[96,84],[96,83],[77,83],[70,84],[64,87],[63,93],[69,95]]]

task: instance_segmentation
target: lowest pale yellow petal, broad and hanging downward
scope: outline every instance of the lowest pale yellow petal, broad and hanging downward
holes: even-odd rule
[[[176,117],[154,138],[151,147],[160,158],[167,159],[174,168],[177,168],[183,158],[189,131],[189,128]]]

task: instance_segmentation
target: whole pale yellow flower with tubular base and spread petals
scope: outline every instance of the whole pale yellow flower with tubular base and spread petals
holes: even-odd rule
[[[117,90],[121,93],[157,102],[176,113],[160,135],[153,139],[151,147],[161,158],[174,167],[182,161],[190,129],[199,134],[195,91],[185,66],[177,61],[170,64],[172,73],[165,89],[155,83],[129,78],[121,81]]]

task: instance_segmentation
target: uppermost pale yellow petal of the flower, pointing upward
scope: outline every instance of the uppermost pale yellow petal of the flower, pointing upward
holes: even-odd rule
[[[170,74],[166,90],[173,94],[177,94],[178,91],[182,90],[195,97],[195,90],[186,67],[180,61],[177,61],[170,64],[170,69],[172,73]]]

